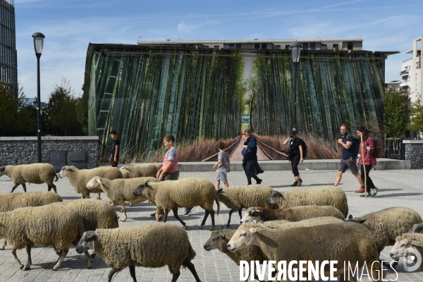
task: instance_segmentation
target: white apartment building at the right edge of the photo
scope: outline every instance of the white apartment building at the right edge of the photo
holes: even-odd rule
[[[412,57],[401,63],[400,87],[410,91],[412,102],[415,102],[417,97],[423,100],[422,39],[423,36],[420,36],[412,41],[412,49],[405,52],[405,54],[412,54]]]

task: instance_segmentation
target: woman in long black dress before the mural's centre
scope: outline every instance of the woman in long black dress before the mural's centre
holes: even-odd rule
[[[252,130],[249,128],[245,130],[245,142],[243,145],[243,168],[245,176],[247,176],[248,185],[251,185],[251,178],[254,178],[257,184],[262,183],[262,179],[257,177],[257,174],[264,173],[257,162],[257,142],[252,136]]]

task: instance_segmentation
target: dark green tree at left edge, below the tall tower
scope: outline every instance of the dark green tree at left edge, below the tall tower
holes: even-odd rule
[[[27,104],[22,88],[9,90],[0,85],[1,135],[34,135],[36,132],[35,110]]]

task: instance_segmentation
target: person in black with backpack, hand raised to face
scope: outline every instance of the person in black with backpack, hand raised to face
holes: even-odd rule
[[[294,130],[291,130],[288,133],[288,138],[283,142],[283,145],[288,145],[288,160],[291,162],[291,167],[293,168],[293,173],[295,177],[295,182],[291,186],[300,187],[302,184],[302,179],[300,172],[298,171],[298,164],[304,161],[305,152],[307,152],[305,142],[302,139],[297,137],[297,133]]]

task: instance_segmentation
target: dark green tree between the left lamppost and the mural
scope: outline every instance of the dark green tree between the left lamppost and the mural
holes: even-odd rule
[[[75,98],[71,82],[61,78],[61,84],[54,85],[47,109],[43,112],[42,131],[52,135],[82,135],[82,125],[78,120],[78,98]]]

